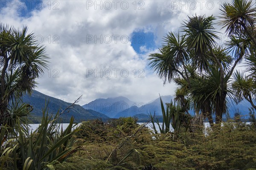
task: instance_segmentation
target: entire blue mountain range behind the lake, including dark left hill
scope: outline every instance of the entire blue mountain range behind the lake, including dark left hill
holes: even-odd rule
[[[174,100],[174,96],[161,96],[161,98],[163,103]],[[241,113],[244,119],[248,118],[248,108],[250,108],[249,102],[244,100],[236,105],[232,99],[228,99],[228,101],[228,115],[231,118],[234,117],[234,114],[237,112]],[[71,103],[47,96],[38,91],[34,91],[31,96],[27,94],[24,95],[23,102],[33,106],[30,119],[34,123],[40,122],[42,108],[45,107],[46,103],[48,103],[48,112],[53,114],[57,113],[58,110],[61,112],[71,105]],[[138,122],[145,122],[149,119],[148,114],[150,113],[155,113],[157,118],[161,119],[162,111],[159,97],[144,104],[143,102],[133,102],[126,97],[119,96],[107,99],[99,98],[82,106],[75,105],[68,113],[62,114],[61,118],[63,122],[69,122],[70,117],[74,116],[76,122],[81,122],[91,119],[102,119],[102,121],[107,121],[108,119],[113,118],[134,116],[137,117]]]

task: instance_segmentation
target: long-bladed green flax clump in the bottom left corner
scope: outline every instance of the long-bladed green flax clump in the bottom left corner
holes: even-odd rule
[[[0,169],[1,170],[43,170],[52,169],[55,161],[62,162],[70,154],[76,152],[79,146],[76,143],[73,129],[74,118],[65,130],[62,130],[58,123],[57,113],[55,117],[49,115],[47,109],[43,110],[41,125],[31,131],[28,125],[15,129],[16,135],[6,138],[6,131],[9,127],[2,126],[0,133]],[[21,126],[17,121],[17,126]]]

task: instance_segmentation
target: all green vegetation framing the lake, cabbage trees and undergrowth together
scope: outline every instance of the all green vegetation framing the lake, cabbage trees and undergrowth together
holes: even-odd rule
[[[0,169],[256,170],[256,8],[251,0],[232,0],[223,8],[220,25],[230,38],[226,48],[214,47],[215,17],[195,16],[184,23],[186,35],[170,33],[160,53],[150,55],[158,76],[179,85],[177,105],[167,104],[165,112],[161,102],[160,133],[131,117],[83,122],[79,127],[71,118],[62,130],[58,122],[63,112],[53,117],[47,109],[41,125],[31,131],[26,116],[32,107],[20,104],[20,96],[32,91],[47,68],[45,48],[36,44],[33,34],[26,35],[26,27],[19,31],[0,25]],[[250,75],[236,72],[230,88],[228,82],[242,58],[249,63]],[[244,98],[251,103],[250,125],[239,115],[235,122],[221,125],[231,91],[238,102]],[[204,127],[197,117],[192,120],[187,114],[191,108],[211,127]],[[213,124],[214,114],[218,125]]]

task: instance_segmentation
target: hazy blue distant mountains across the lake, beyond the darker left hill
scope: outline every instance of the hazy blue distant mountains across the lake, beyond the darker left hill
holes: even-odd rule
[[[163,103],[169,103],[171,100],[174,101],[174,96],[161,96],[161,98]],[[239,112],[243,115],[244,119],[248,119],[248,108],[251,107],[249,102],[243,100],[239,104],[236,104],[236,102],[230,98],[228,98],[227,101],[229,106],[227,115],[229,117],[233,118],[235,113]],[[162,115],[160,97],[144,104],[142,102],[133,102],[125,97],[119,96],[116,98],[96,99],[82,105],[82,107],[98,111],[111,118],[134,116],[137,117],[139,121],[148,119],[148,114],[150,113],[155,113],[156,116]],[[190,113],[193,113],[193,111],[190,111]]]

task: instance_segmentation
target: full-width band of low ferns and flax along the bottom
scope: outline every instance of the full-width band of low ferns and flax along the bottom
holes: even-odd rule
[[[239,116],[214,131],[198,125],[174,133],[171,124],[170,132],[155,133],[132,117],[76,127],[71,119],[62,130],[58,116],[50,119],[43,113],[33,132],[20,130],[8,140],[0,136],[1,169],[256,170],[256,122],[241,122]]]

